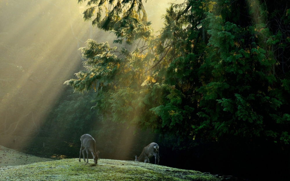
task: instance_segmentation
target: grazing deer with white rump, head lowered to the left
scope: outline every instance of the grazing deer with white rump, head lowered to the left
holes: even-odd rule
[[[142,162],[144,160],[144,163],[148,162],[149,163],[149,158],[152,156],[155,156],[155,164],[156,164],[156,158],[158,160],[157,164],[159,165],[159,155],[158,151],[159,146],[157,143],[150,143],[146,147],[143,148],[143,151],[139,157],[137,155],[135,156],[135,161],[136,162]]]

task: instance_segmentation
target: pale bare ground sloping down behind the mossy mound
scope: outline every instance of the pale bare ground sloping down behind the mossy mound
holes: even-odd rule
[[[25,165],[36,162],[46,162],[55,159],[41,158],[15,151],[0,145],[0,167]]]

